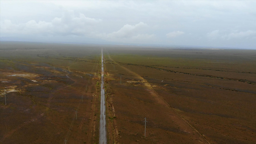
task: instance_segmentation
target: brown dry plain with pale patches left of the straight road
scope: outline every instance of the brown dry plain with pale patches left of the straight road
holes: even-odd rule
[[[0,144],[98,142],[100,48],[0,47]]]

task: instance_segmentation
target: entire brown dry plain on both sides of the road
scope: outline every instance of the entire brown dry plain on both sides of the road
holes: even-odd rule
[[[101,47],[109,144],[256,143],[256,50],[2,42],[0,143],[97,144]]]

